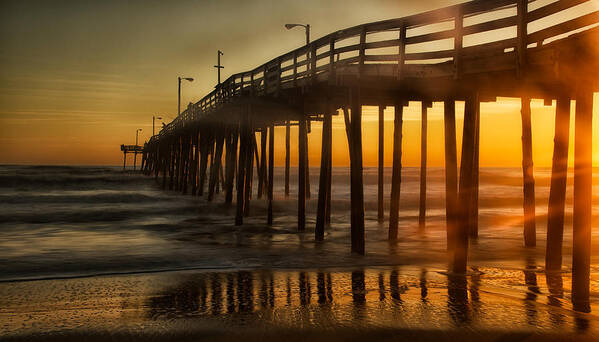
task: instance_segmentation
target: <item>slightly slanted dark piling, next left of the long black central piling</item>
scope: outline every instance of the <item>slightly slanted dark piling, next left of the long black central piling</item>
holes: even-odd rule
[[[332,141],[332,113],[325,113],[322,123],[322,153],[320,161],[320,180],[318,185],[318,210],[316,213],[316,229],[314,235],[316,241],[324,240],[324,226],[326,224],[327,206],[330,205],[330,181],[331,173],[331,141]]]

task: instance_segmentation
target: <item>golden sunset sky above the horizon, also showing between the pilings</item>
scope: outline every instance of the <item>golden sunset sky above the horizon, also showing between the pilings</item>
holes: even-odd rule
[[[0,2],[0,164],[120,165],[121,144],[152,134],[152,116],[170,121],[216,84],[217,50],[223,79],[261,65],[312,38],[379,20],[403,17],[463,1],[344,0],[3,0]],[[545,1],[547,2],[547,1]],[[597,0],[590,6],[599,9]],[[588,6],[587,6],[588,7]],[[588,8],[587,8],[588,10]],[[599,166],[599,97],[594,96],[594,164]],[[574,108],[574,107],[573,107]],[[458,142],[463,104],[458,103]],[[377,164],[377,113],[364,108],[364,164]],[[420,103],[404,123],[404,165],[420,163]],[[550,166],[555,106],[533,102],[533,158]],[[429,112],[428,160],[443,165],[443,109]],[[391,165],[393,111],[385,115],[385,159]],[[159,125],[159,124],[158,124]],[[571,125],[573,127],[573,123]],[[320,126],[310,134],[310,163],[320,162]],[[342,117],[334,120],[333,162],[348,165]],[[277,129],[277,165],[284,161],[284,131]],[[482,166],[519,166],[521,120],[517,99],[481,108]],[[571,137],[572,139],[572,137]],[[501,143],[498,143],[501,142]],[[292,163],[297,160],[292,131]],[[573,140],[571,140],[573,147]],[[571,153],[572,154],[572,153]]]

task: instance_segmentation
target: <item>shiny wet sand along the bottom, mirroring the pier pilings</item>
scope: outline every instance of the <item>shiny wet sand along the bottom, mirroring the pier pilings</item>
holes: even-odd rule
[[[599,340],[569,288],[532,267],[163,272],[2,283],[0,322],[7,341]]]

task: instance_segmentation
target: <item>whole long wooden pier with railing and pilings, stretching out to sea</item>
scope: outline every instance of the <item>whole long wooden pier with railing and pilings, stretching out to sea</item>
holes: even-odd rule
[[[447,246],[451,272],[465,274],[468,245],[478,235],[480,103],[521,98],[524,179],[523,240],[536,245],[531,99],[557,101],[549,199],[546,269],[560,271],[571,101],[575,112],[573,300],[588,302],[591,242],[592,105],[599,89],[599,11],[578,16],[584,0],[477,0],[399,19],[333,32],[263,65],[232,75],[166,125],[143,149],[143,170],[164,188],[213,200],[222,186],[236,202],[235,224],[250,215],[254,166],[258,197],[266,195],[265,222],[273,222],[276,126],[298,126],[298,230],[306,228],[307,146],[310,123],[322,121],[322,160],[315,239],[330,222],[332,116],[343,115],[351,163],[351,249],[365,253],[362,106],[395,108],[389,240],[398,239],[403,109],[443,102]],[[587,4],[588,5],[588,4]],[[574,11],[575,12],[575,11]],[[567,14],[564,14],[567,13]],[[563,14],[563,15],[562,15]],[[564,18],[564,19],[560,19]],[[456,101],[465,102],[461,165],[456,151]],[[383,120],[383,115],[379,115]],[[383,130],[383,126],[379,125]],[[257,148],[256,134],[261,148]],[[426,151],[426,139],[422,139]],[[497,142],[500,144],[501,142]],[[379,142],[379,148],[383,144]],[[268,157],[267,157],[268,156]],[[382,152],[380,153],[382,156]],[[379,162],[383,158],[379,157]],[[421,163],[426,174],[426,159]],[[379,172],[382,173],[382,165]],[[380,178],[382,180],[382,178]],[[379,181],[379,219],[384,194]],[[207,193],[206,193],[207,191]],[[234,192],[236,191],[236,194]],[[419,222],[425,229],[426,177],[421,177]],[[286,190],[286,194],[288,191]],[[253,213],[256,214],[256,213]]]

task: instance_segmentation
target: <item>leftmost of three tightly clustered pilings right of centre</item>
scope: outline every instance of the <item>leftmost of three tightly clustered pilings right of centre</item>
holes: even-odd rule
[[[445,101],[445,217],[447,249],[453,248],[458,206],[458,161],[456,148],[455,101]]]

